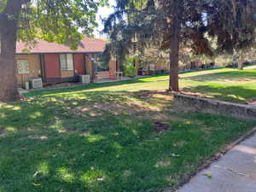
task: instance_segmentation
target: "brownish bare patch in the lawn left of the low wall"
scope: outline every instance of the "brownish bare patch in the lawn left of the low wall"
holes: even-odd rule
[[[179,120],[178,117],[171,114],[172,108],[170,107],[172,105],[169,99],[172,100],[172,96],[161,96],[161,94],[158,93],[154,96],[157,97],[154,98],[157,99],[157,101],[150,100],[153,98],[150,97],[143,101],[89,103],[73,108],[73,110],[69,110],[69,113],[82,116],[85,119],[104,118],[105,115],[125,115],[137,117],[137,119],[151,119],[153,122],[163,122],[170,119]]]

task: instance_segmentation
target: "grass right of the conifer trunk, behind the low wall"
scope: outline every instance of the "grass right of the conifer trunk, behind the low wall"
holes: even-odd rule
[[[256,70],[219,69],[182,76],[182,87],[200,96],[227,102],[256,100]]]

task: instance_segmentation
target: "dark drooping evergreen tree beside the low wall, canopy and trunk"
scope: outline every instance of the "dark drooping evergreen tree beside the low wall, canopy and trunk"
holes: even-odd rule
[[[253,0],[116,0],[117,8],[105,20],[113,53],[129,54],[160,44],[169,49],[172,83],[176,81],[178,50],[189,47],[195,55],[232,53],[255,42],[256,2]],[[140,2],[140,3],[139,3]],[[175,67],[175,69],[173,68]],[[173,71],[174,70],[174,71]]]

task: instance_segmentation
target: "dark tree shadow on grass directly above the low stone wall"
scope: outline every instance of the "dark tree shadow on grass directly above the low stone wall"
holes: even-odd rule
[[[206,94],[215,99],[226,102],[244,103],[253,102],[256,99],[256,90],[245,88],[244,86],[214,86],[199,85],[190,88],[184,88],[184,91]]]

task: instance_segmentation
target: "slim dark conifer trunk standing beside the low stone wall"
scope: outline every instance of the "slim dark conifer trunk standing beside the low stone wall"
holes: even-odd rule
[[[172,38],[170,46],[170,84],[169,90],[179,91],[178,87],[178,60],[179,60],[179,36],[181,31],[181,21],[179,19],[178,10],[174,14],[172,21]]]

